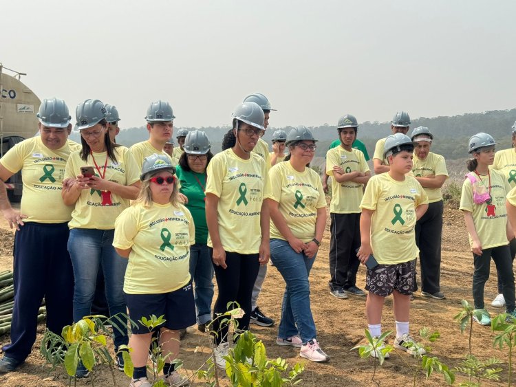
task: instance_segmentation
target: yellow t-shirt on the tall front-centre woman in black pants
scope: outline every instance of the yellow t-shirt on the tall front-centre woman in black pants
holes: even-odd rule
[[[208,164],[206,194],[219,197],[219,235],[226,252],[256,254],[261,243],[261,203],[270,196],[264,159],[250,153],[244,160],[231,148]],[[213,247],[208,235],[208,246]]]

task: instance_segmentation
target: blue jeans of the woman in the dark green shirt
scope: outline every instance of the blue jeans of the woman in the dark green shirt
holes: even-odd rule
[[[195,309],[197,324],[211,320],[211,300],[213,300],[213,265],[208,245],[195,243],[190,247],[190,275],[195,283]]]

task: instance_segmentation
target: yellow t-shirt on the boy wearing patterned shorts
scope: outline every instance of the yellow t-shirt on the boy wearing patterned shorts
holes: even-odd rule
[[[416,208],[426,203],[427,192],[411,176],[396,181],[382,173],[369,179],[360,206],[374,210],[371,246],[378,263],[394,265],[416,258]]]

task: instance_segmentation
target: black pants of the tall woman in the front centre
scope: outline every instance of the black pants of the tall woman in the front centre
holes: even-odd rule
[[[210,256],[213,257],[213,249],[209,247],[209,250]],[[238,302],[241,309],[246,312],[244,317],[237,319],[237,329],[239,331],[249,329],[252,287],[255,286],[260,267],[258,254],[239,254],[235,252],[226,252],[226,265],[228,265],[226,269],[213,265],[219,289],[217,301],[215,301],[215,307],[213,307],[213,331],[217,333],[215,335],[215,344],[217,345],[228,341],[228,324],[220,322],[227,316],[216,318],[217,313],[228,311],[228,302]]]

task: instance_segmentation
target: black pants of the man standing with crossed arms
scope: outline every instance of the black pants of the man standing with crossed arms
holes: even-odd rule
[[[360,215],[330,213],[330,285],[331,290],[348,289],[356,285],[360,261]]]

